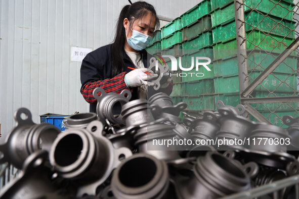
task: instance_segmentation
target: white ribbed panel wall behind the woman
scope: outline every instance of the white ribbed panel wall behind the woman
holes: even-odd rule
[[[110,43],[126,0],[0,0],[0,143],[28,108],[33,121],[45,113],[88,112],[80,94],[80,62],[71,46]],[[136,2],[136,1],[132,1]],[[201,1],[149,0],[160,16],[176,18]]]

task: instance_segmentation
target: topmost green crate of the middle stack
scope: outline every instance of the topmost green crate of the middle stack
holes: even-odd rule
[[[181,15],[182,27],[185,27],[211,11],[210,0],[204,0]]]

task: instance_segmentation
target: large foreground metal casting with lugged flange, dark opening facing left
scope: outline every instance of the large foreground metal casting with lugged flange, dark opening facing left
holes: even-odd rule
[[[91,122],[86,129],[67,129],[51,148],[51,165],[59,176],[77,184],[77,196],[95,195],[120,160],[132,155],[129,148],[115,149],[102,130],[100,121]]]

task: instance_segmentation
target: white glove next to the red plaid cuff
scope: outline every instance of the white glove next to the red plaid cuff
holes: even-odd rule
[[[147,68],[139,68],[124,75],[124,82],[127,87],[138,87],[147,85],[148,75],[145,74]]]

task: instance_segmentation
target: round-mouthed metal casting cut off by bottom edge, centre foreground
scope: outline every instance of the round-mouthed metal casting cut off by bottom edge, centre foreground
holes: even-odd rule
[[[115,169],[111,188],[121,199],[168,198],[169,174],[163,160],[148,154],[135,154]]]

